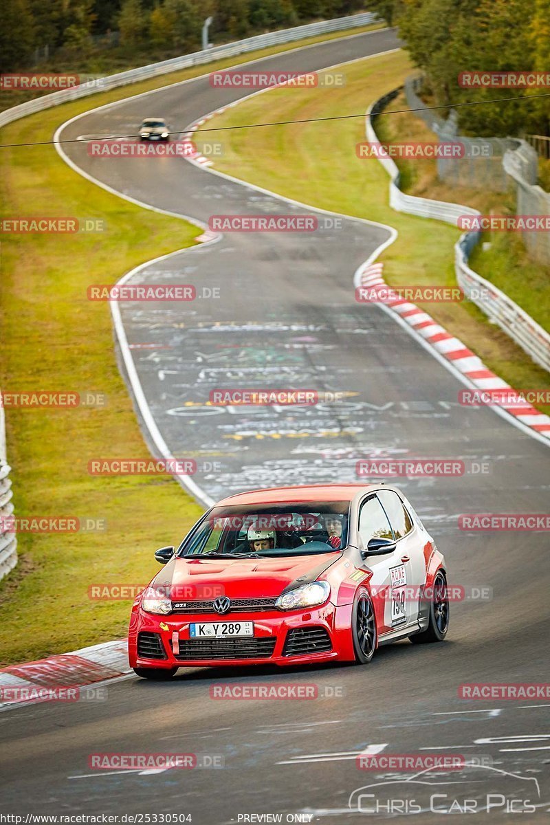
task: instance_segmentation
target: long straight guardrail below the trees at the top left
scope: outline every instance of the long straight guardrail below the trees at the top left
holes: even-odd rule
[[[153,63],[149,66],[142,66],[141,68],[131,68],[127,72],[110,74],[106,78],[83,83],[82,86],[61,89],[59,92],[52,92],[43,97],[36,97],[35,100],[21,103],[20,106],[13,106],[11,109],[0,112],[0,126],[12,123],[12,120],[17,120],[20,117],[32,115],[36,111],[49,109],[51,106],[59,106],[61,103],[77,100],[79,97],[86,97],[96,92],[106,92],[118,86],[125,86],[127,83],[156,78],[157,75],[176,72],[181,68],[213,63],[214,60],[233,57],[237,54],[255,51],[256,49],[265,49],[267,46],[291,43],[293,40],[303,40],[304,37],[313,37],[315,35],[328,34],[331,31],[345,31],[346,29],[358,28],[359,26],[368,26],[369,23],[374,23],[378,20],[378,16],[373,12],[364,12],[347,17],[336,17],[334,20],[309,23],[306,26],[295,26],[293,29],[270,31],[266,35],[247,37],[246,40],[236,40],[233,43],[214,46],[212,49],[184,54],[182,57],[162,60],[161,63]]]

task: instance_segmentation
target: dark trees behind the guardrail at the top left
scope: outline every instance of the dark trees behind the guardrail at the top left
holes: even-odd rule
[[[132,58],[200,50],[207,16],[214,43],[355,14],[363,0],[10,0],[0,27],[0,71],[58,64],[101,70]]]

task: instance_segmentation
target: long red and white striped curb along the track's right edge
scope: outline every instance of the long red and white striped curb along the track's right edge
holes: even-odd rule
[[[366,287],[386,286],[382,276],[383,263],[370,263],[361,266],[356,273],[356,285]],[[521,395],[510,384],[498,377],[494,372],[487,369],[481,358],[466,347],[459,338],[447,332],[444,327],[437,323],[423,309],[419,309],[416,304],[396,297],[395,300],[384,301],[387,306],[396,313],[403,322],[421,336],[425,343],[442,356],[446,361],[458,370],[475,389],[479,390],[505,390],[507,399],[505,402],[496,403],[494,406],[500,407],[505,413],[514,416],[525,427],[538,432],[550,439],[550,417],[539,413],[537,409],[529,403],[523,403]]]

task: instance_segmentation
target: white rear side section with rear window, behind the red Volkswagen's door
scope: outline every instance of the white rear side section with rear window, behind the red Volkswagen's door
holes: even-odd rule
[[[418,619],[420,589],[425,584],[425,560],[421,541],[401,497],[393,490],[380,490],[378,498],[392,526],[393,538],[397,541],[397,561],[403,569],[400,567],[398,571],[399,585],[394,595],[404,599],[407,621],[402,624],[409,625]],[[397,572],[394,577],[396,574]]]

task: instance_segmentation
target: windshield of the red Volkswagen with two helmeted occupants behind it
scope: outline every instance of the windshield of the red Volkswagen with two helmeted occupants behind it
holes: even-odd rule
[[[297,556],[346,547],[350,502],[292,502],[214,507],[180,555]]]

